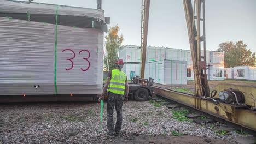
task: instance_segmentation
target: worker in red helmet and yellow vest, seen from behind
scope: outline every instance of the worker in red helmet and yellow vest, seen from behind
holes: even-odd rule
[[[107,136],[114,137],[120,136],[121,126],[123,121],[122,116],[122,106],[123,101],[126,103],[128,101],[128,82],[126,74],[121,71],[124,66],[123,59],[119,59],[116,63],[116,69],[110,70],[108,72],[107,82],[104,85],[103,92],[101,97],[98,99],[99,101],[104,99],[105,95],[108,95],[108,103],[107,103],[107,127],[108,133]],[[108,92],[108,94],[106,94]],[[113,121],[113,112],[114,107],[117,112],[117,122]]]

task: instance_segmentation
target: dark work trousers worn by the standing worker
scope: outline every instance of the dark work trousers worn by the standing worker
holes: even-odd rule
[[[122,106],[123,106],[124,95],[115,94],[108,92],[108,104],[107,104],[107,125],[109,135],[114,135],[115,133],[120,133],[123,116],[122,116]],[[114,127],[114,107],[117,112],[117,122]]]

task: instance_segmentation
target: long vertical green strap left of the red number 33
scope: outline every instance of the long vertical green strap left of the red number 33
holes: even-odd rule
[[[55,14],[55,46],[54,46],[54,86],[55,86],[55,93],[58,94],[57,90],[57,39],[58,39],[58,10],[59,10],[59,5],[56,9],[56,14]]]

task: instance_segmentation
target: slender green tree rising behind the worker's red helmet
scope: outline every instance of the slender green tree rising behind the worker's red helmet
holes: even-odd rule
[[[121,45],[123,43],[123,35],[118,35],[119,27],[116,25],[115,27],[110,27],[108,30],[108,35],[106,35],[106,55],[108,57],[108,66],[109,70],[115,69],[115,62],[118,60],[118,52],[121,49]],[[104,64],[107,68],[107,57],[104,56]]]

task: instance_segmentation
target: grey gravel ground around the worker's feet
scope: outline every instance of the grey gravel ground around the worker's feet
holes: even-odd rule
[[[106,103],[102,129],[99,132],[99,103],[39,103],[0,105],[1,143],[106,143]],[[115,118],[114,118],[115,119]],[[220,123],[196,124],[178,122],[172,112],[161,105],[129,101],[123,105],[123,134],[172,135],[171,130],[202,138],[216,138],[236,143],[240,135],[234,131],[218,135],[211,127],[223,127]],[[77,130],[75,136],[67,131]],[[128,136],[129,137],[129,136]]]

